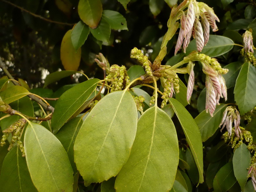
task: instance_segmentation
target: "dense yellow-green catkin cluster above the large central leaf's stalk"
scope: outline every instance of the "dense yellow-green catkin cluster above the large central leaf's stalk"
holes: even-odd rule
[[[110,73],[106,76],[105,80],[107,81],[109,79],[114,80],[110,92],[120,91],[130,83],[124,66],[112,65],[110,67]]]

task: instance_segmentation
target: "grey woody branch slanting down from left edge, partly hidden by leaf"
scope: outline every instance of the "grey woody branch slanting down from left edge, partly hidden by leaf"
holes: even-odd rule
[[[9,79],[14,79],[13,76],[9,73],[9,71],[7,70],[7,68],[5,67],[1,57],[0,57],[0,67],[2,68],[2,70],[4,71],[4,73],[6,74],[6,76]],[[16,81],[12,81],[13,84],[15,85],[20,85],[19,83],[17,83]],[[47,110],[47,111],[54,111],[54,108],[50,105],[48,106],[47,104],[45,104],[41,99],[37,98],[34,95],[28,95],[28,97],[34,101],[36,101],[37,103],[39,103],[40,105],[42,105],[42,107]]]

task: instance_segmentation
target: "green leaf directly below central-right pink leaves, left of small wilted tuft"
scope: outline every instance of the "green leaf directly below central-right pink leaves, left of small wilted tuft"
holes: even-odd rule
[[[220,104],[216,106],[213,116],[210,116],[205,110],[196,116],[195,122],[199,128],[203,142],[212,137],[219,128],[225,108],[226,105]]]

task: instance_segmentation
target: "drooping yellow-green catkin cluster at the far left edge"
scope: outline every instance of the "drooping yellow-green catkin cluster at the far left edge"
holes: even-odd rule
[[[12,139],[10,141],[8,151],[10,151],[12,149],[13,145],[17,141],[17,145],[20,148],[22,156],[24,157],[25,151],[24,151],[23,143],[21,141],[21,130],[24,128],[26,123],[27,123],[27,121],[22,118],[22,119],[19,119],[18,121],[16,121],[14,124],[11,124],[7,129],[5,129],[3,131],[4,135],[2,136],[0,146],[3,147],[4,144],[6,144],[5,141],[8,139],[8,136],[11,133]]]

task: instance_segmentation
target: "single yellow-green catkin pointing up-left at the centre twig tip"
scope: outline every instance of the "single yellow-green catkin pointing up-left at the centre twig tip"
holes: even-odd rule
[[[141,63],[142,66],[145,68],[145,71],[149,76],[153,75],[151,70],[151,62],[148,60],[148,57],[146,55],[143,55],[141,50],[134,47],[131,51],[131,58],[137,59],[139,63]]]

